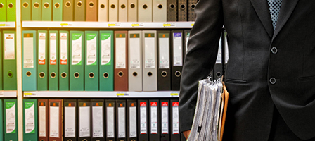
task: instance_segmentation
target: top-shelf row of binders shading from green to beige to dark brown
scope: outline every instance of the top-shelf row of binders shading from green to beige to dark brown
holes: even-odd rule
[[[195,21],[196,4],[197,0],[23,0],[22,20]]]

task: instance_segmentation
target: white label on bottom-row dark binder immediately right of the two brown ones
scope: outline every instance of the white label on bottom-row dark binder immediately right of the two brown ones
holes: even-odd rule
[[[75,137],[75,107],[65,107],[65,137]]]

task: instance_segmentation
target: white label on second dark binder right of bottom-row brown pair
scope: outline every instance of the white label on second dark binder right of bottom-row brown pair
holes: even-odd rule
[[[90,107],[79,107],[79,137],[90,136]]]

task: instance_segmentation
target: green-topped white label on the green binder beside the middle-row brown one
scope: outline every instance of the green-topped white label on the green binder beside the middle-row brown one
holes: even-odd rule
[[[101,52],[101,56],[102,56],[102,60],[101,60],[101,65],[111,65],[110,62],[110,53],[111,53],[111,35],[110,33],[102,33],[101,34],[101,48],[102,48],[102,52]]]

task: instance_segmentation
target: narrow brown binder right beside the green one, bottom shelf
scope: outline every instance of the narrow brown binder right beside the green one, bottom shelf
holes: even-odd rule
[[[38,99],[38,140],[48,141],[49,137],[48,99]]]

